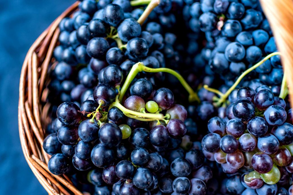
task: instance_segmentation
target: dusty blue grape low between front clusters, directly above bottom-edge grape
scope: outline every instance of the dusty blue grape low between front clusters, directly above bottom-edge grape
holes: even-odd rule
[[[191,173],[191,165],[185,158],[176,158],[171,163],[170,170],[175,177],[188,176]]]

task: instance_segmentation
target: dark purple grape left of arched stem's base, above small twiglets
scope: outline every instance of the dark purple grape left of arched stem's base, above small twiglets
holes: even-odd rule
[[[101,83],[96,86],[93,92],[94,100],[99,104],[99,100],[103,100],[102,106],[108,106],[114,102],[116,97],[116,90],[113,86],[107,83]]]

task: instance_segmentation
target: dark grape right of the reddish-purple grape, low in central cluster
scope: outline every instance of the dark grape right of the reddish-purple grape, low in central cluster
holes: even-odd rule
[[[120,179],[131,178],[134,174],[134,166],[128,160],[122,160],[117,163],[115,167],[115,173]]]

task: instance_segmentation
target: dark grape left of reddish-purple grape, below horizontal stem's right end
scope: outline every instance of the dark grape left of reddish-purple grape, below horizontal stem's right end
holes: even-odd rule
[[[163,125],[157,125],[149,132],[149,140],[154,146],[163,146],[168,141],[168,131]]]

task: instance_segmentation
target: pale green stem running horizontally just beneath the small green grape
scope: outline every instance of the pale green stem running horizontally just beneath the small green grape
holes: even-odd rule
[[[112,108],[112,107],[117,107],[119,110],[121,110],[125,115],[127,114],[131,114],[133,115],[134,117],[136,117],[135,119],[138,119],[139,118],[144,118],[144,119],[152,119],[152,120],[163,120],[164,119],[164,115],[163,114],[153,114],[153,113],[142,113],[142,112],[136,112],[136,111],[133,111],[133,110],[129,110],[127,108],[125,108],[124,106],[122,106],[120,104],[119,101],[115,101],[113,102],[110,107],[109,107],[109,110]]]

